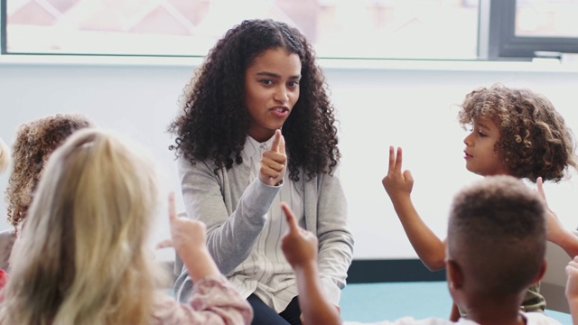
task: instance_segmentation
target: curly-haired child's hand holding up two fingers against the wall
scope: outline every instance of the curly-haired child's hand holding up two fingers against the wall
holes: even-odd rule
[[[391,200],[399,198],[401,195],[409,196],[414,187],[414,178],[409,171],[401,172],[403,155],[401,147],[397,147],[397,154],[393,145],[389,146],[389,167],[386,177],[381,180],[387,195]]]

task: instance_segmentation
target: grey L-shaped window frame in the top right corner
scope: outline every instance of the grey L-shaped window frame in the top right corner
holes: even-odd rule
[[[480,1],[480,26],[488,25],[487,45],[479,46],[479,58],[486,60],[533,60],[540,57],[540,51],[558,53],[578,53],[578,38],[573,37],[529,37],[516,36],[517,0],[488,0],[489,5]],[[482,13],[483,11],[483,13]],[[481,19],[484,19],[482,23]],[[555,57],[560,59],[559,57]]]

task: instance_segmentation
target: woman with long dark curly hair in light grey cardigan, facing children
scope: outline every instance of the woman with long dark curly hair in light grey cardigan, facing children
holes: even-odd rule
[[[334,108],[310,43],[285,23],[244,21],[210,50],[183,99],[169,130],[186,213],[207,225],[210,253],[253,306],[253,324],[301,323],[281,200],[319,237],[323,288],[339,310],[353,238]],[[191,287],[182,269],[175,296],[185,301]]]

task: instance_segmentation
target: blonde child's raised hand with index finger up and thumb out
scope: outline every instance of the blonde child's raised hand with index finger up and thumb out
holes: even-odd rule
[[[177,254],[206,246],[207,229],[205,224],[191,218],[179,218],[177,216],[174,193],[169,193],[169,225],[171,228],[171,238],[163,240],[157,244],[157,248],[174,247]]]

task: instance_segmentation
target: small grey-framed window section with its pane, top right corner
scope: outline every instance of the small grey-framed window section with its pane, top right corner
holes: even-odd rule
[[[578,53],[578,0],[491,0],[485,17],[480,25],[489,22],[489,42],[481,57],[531,60]]]

